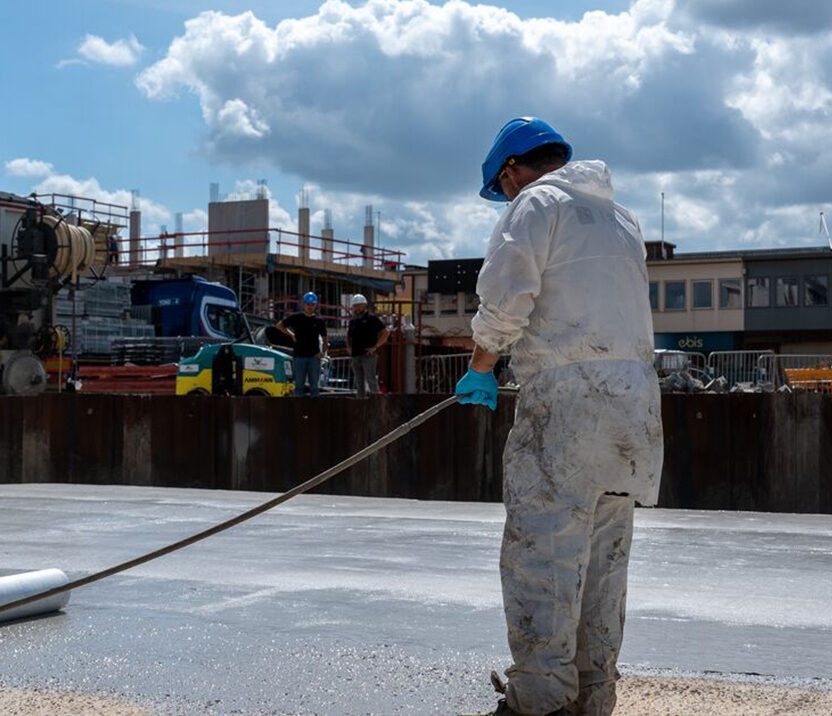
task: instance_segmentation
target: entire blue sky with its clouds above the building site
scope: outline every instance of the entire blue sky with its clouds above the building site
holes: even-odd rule
[[[265,178],[275,223],[291,225],[305,184],[313,230],[329,208],[336,234],[357,236],[373,203],[384,243],[414,260],[472,256],[499,210],[476,198],[482,156],[502,121],[534,112],[579,158],[610,163],[648,238],[665,191],[680,248],[820,242],[818,211],[832,209],[824,6],[494,5],[509,13],[406,0],[320,13],[309,0],[2,3],[0,60],[15,81],[0,190],[138,188],[156,231],[177,211],[199,228],[211,181],[234,192]]]

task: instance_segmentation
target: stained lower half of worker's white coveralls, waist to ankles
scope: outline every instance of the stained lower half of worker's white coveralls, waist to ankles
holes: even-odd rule
[[[503,458],[500,560],[514,659],[506,699],[518,713],[567,707],[582,686],[586,708],[607,713],[633,502],[651,502],[661,470],[654,384],[649,366],[598,361],[541,372],[520,390]]]

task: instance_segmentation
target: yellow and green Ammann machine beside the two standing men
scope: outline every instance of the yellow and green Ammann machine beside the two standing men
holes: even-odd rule
[[[177,395],[263,395],[277,398],[294,390],[292,357],[247,343],[203,346],[179,362]]]

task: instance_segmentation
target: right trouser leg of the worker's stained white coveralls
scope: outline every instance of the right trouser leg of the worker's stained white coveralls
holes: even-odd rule
[[[624,636],[633,500],[602,495],[595,507],[592,549],[581,601],[575,665],[579,692],[571,713],[609,716],[615,708],[616,663]]]

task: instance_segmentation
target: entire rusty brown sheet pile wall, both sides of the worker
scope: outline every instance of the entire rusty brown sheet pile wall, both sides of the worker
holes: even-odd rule
[[[280,492],[440,395],[0,398],[0,482]],[[318,492],[496,501],[514,413],[453,406]],[[832,397],[664,395],[660,505],[832,513]]]

